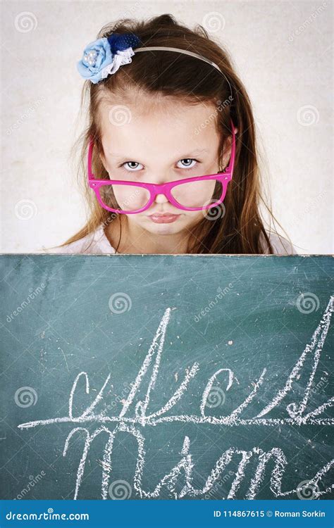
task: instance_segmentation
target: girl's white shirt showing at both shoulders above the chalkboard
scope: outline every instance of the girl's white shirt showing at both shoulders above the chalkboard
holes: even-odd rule
[[[277,255],[296,255],[294,246],[290,244],[283,237],[278,237],[276,233],[267,232],[268,237],[273,246],[273,251]],[[104,226],[101,224],[97,230],[92,233],[87,234],[86,237],[83,237],[80,240],[66,244],[66,246],[46,249],[43,248],[43,251],[46,253],[115,253],[115,249],[111,246],[109,240],[104,233]],[[268,254],[268,248],[265,252]]]

